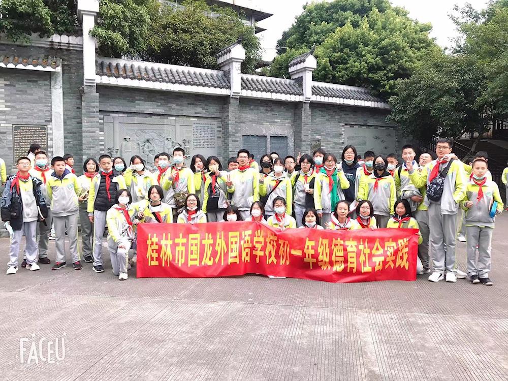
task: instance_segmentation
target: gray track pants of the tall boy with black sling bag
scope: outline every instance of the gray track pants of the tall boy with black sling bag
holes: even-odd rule
[[[457,213],[441,214],[441,204],[431,202],[429,210],[429,248],[435,272],[444,270],[456,272],[455,235],[457,233]],[[446,249],[444,248],[446,245]]]

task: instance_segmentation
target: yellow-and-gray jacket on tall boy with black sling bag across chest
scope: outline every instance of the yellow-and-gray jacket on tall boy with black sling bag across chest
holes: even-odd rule
[[[429,177],[432,172],[432,168],[435,167],[437,160],[433,160],[425,166],[422,171],[413,170],[409,173],[412,183],[417,187],[427,186],[430,181]],[[441,172],[448,163],[440,165],[439,172]],[[448,171],[447,177],[444,179],[444,188],[441,200],[438,202],[441,205],[441,214],[456,214],[459,211],[459,203],[464,198],[466,192],[466,174],[464,167],[461,162],[454,160],[450,164],[450,170]],[[431,201],[425,196],[425,205],[429,206]],[[391,213],[393,214],[393,212]]]

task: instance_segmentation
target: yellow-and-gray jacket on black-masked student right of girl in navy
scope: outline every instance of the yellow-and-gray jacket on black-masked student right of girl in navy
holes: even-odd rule
[[[374,189],[376,180],[378,180],[378,185],[377,189]],[[369,200],[374,208],[374,214],[393,214],[393,205],[397,200],[397,190],[395,189],[393,177],[388,174],[384,177],[376,178],[372,173],[360,184],[358,200]]]

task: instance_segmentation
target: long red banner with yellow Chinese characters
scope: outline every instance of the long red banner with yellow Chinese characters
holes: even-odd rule
[[[279,231],[253,222],[138,225],[138,278],[259,273],[327,282],[415,280],[416,229]]]

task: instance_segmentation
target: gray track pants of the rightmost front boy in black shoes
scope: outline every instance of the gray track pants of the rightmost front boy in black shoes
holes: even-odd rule
[[[493,228],[466,226],[467,275],[478,274],[479,278],[488,278],[490,271],[490,248]],[[477,248],[478,245],[478,259]]]

